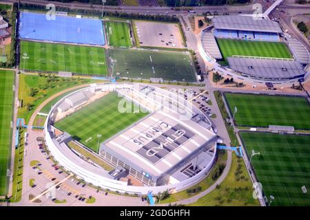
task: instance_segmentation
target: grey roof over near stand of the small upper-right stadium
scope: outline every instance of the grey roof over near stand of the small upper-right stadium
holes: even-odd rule
[[[231,69],[255,78],[295,78],[306,72],[298,61],[228,57]]]

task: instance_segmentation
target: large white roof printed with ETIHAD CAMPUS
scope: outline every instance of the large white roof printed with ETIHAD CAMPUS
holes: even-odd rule
[[[157,178],[214,141],[215,133],[193,120],[178,120],[178,113],[166,110],[148,115],[101,144],[101,149]]]

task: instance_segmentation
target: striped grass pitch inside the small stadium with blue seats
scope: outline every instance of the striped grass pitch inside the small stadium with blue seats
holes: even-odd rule
[[[285,43],[232,39],[216,39],[216,41],[225,64],[228,64],[226,58],[233,55],[292,58],[291,52]]]

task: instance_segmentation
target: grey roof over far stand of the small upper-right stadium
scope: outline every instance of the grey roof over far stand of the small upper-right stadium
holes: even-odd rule
[[[282,33],[280,25],[277,22],[264,18],[258,19],[250,16],[226,15],[214,17],[212,22],[216,29]]]

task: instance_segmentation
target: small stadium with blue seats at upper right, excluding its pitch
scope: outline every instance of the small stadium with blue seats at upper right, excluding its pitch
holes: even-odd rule
[[[254,83],[292,83],[309,75],[304,70],[310,61],[309,51],[302,43],[283,33],[277,22],[264,17],[229,15],[214,17],[212,23],[213,26],[203,30],[201,41],[205,55],[215,64],[214,70]],[[218,39],[285,43],[292,58],[233,55],[226,58],[227,65],[221,66],[216,63],[223,61]]]

